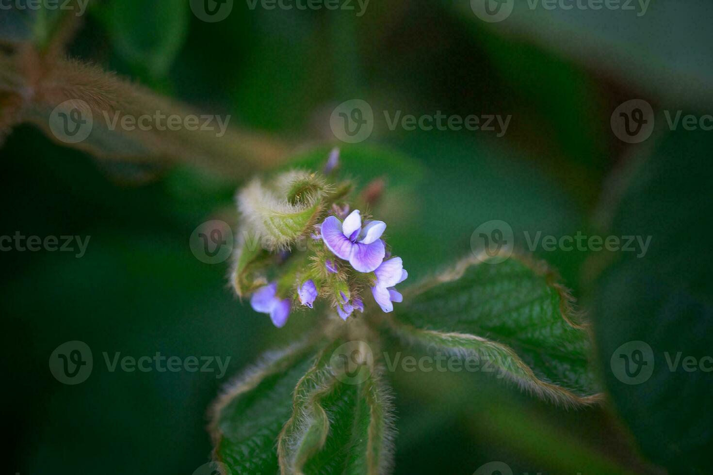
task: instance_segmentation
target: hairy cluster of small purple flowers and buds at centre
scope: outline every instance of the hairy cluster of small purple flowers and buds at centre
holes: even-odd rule
[[[324,175],[329,176],[338,167],[335,157],[338,155],[333,151]],[[393,311],[394,302],[402,301],[394,286],[409,274],[401,258],[387,251],[383,239],[386,223],[362,216],[359,209],[350,212],[346,202],[351,189],[348,182],[329,186],[324,184],[322,175],[299,172],[291,172],[278,182],[282,184],[280,192],[287,190],[287,199],[275,204],[276,209],[279,207],[279,214],[275,213],[278,217],[247,217],[257,226],[265,223],[260,230],[269,231],[282,229],[279,219],[284,219],[287,231],[276,236],[275,242],[288,245],[257,251],[243,249],[233,276],[237,293],[252,293],[252,308],[270,315],[277,327],[287,322],[292,310],[314,308],[322,299],[346,321],[356,313],[364,313],[362,293],[366,289],[371,290],[381,310]],[[260,184],[252,185],[255,186]],[[264,197],[269,197],[269,192],[260,191],[260,203],[255,205],[250,196],[239,196],[241,213],[252,212],[251,206],[265,213],[269,202],[266,204]],[[285,209],[294,209],[292,216],[284,218]],[[295,222],[303,225],[298,231],[294,231]],[[288,231],[292,234],[287,235]]]

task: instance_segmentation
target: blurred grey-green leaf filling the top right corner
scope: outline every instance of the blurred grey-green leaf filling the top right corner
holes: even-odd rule
[[[713,104],[705,86],[713,81],[711,2],[622,1],[614,3],[615,9],[587,2],[577,4],[585,8],[573,2],[567,3],[569,8],[545,8],[545,3],[515,1],[512,14],[493,24],[473,14],[469,2],[453,6],[478,28],[527,38],[558,56],[612,75],[627,88],[680,105]],[[530,9],[530,4],[537,6]]]

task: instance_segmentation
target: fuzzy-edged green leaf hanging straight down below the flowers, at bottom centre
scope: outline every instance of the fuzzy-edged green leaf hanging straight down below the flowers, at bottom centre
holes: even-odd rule
[[[353,366],[340,365],[340,356]],[[390,410],[369,345],[337,340],[297,384],[294,413],[279,437],[282,473],[384,473],[391,464]]]

